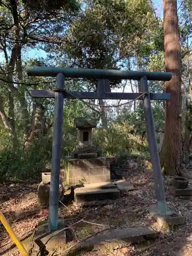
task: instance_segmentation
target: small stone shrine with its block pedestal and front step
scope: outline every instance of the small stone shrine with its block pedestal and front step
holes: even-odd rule
[[[98,157],[92,139],[92,129],[97,120],[78,117],[74,127],[78,129],[78,145],[67,158],[67,183],[74,192],[76,202],[118,199],[120,191],[111,183],[110,159]]]

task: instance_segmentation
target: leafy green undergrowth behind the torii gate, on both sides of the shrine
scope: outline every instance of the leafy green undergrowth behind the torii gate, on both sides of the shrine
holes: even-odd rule
[[[129,121],[112,122],[108,129],[98,127],[93,131],[94,144],[100,156],[126,158],[148,158],[146,138],[132,131]],[[33,140],[25,150],[18,145],[15,152],[9,147],[0,151],[0,181],[41,179],[41,172],[51,167],[52,133]],[[61,168],[66,168],[65,156],[71,155],[77,146],[77,130],[73,126],[63,128]]]

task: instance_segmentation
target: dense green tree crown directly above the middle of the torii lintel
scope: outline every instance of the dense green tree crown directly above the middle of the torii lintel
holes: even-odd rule
[[[78,60],[77,67],[117,69],[119,60],[147,47],[140,39],[154,22],[147,0],[91,1],[88,5],[91,8],[74,20],[61,46]]]

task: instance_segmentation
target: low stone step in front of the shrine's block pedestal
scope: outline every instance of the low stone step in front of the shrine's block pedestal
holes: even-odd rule
[[[120,191],[112,183],[89,184],[83,187],[73,186],[72,193],[74,193],[76,203],[120,198]]]

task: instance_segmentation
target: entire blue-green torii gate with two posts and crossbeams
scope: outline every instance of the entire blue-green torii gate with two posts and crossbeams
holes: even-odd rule
[[[157,140],[153,122],[151,100],[168,100],[168,93],[148,93],[147,80],[169,81],[172,73],[164,72],[141,72],[121,70],[97,70],[97,69],[74,69],[54,67],[27,67],[29,76],[55,76],[56,88],[54,90],[34,90],[33,98],[55,98],[53,144],[51,159],[51,184],[49,198],[49,228],[50,231],[57,230],[58,220],[58,198],[59,198],[59,175],[61,140],[63,124],[63,99],[126,99],[143,100],[144,117],[147,130],[147,140],[150,147],[152,168],[154,172],[155,189],[158,209],[166,214],[166,201],[164,196],[161,166],[157,148]],[[97,92],[67,92],[65,91],[65,77],[94,78],[99,79],[99,90]],[[141,93],[112,93],[109,87],[109,79],[133,79],[140,80]]]

